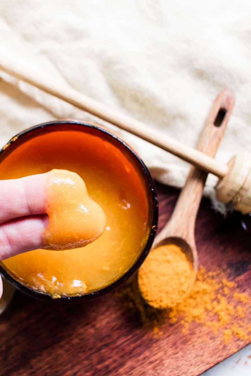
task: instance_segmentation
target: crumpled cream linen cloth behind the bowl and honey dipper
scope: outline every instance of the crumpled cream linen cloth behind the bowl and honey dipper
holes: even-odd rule
[[[0,59],[46,74],[195,146],[219,91],[236,105],[216,158],[251,141],[251,6],[239,0],[1,0]],[[0,146],[44,121],[103,124],[134,147],[153,176],[181,187],[189,165],[0,72]],[[210,176],[205,194],[214,196]],[[222,209],[222,208],[220,208]]]

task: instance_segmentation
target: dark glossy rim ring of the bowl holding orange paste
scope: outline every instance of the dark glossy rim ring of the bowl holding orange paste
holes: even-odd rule
[[[146,242],[146,246],[141,251],[138,259],[135,263],[131,266],[131,268],[123,274],[119,279],[114,281],[112,284],[101,288],[98,291],[93,293],[83,294],[81,296],[62,296],[61,299],[56,299],[58,301],[71,301],[71,302],[84,302],[91,299],[95,299],[99,296],[103,296],[107,293],[110,293],[114,289],[120,287],[126,280],[129,279],[141,266],[143,261],[145,260],[146,256],[149,253],[149,250],[152,247],[152,243],[154,241],[155,233],[157,230],[158,224],[158,200],[156,197],[154,181],[152,180],[151,174],[148,171],[148,168],[145,166],[144,162],[139,158],[139,156],[131,149],[131,147],[125,143],[122,139],[114,135],[113,133],[109,132],[106,129],[98,127],[93,124],[88,123],[81,123],[78,121],[52,121],[49,123],[39,124],[37,126],[31,127],[29,129],[24,130],[23,132],[18,133],[18,135],[14,136],[0,151],[0,167],[2,161],[8,156],[13,150],[17,149],[18,146],[23,144],[28,139],[36,137],[38,135],[53,132],[58,130],[77,130],[79,132],[88,133],[91,135],[98,136],[102,139],[105,139],[109,143],[116,146],[134,165],[137,169],[138,174],[140,175],[144,185],[146,196],[148,198],[148,205],[149,205],[149,218],[148,218],[148,226],[149,226],[149,235]],[[50,294],[46,294],[40,291],[32,290],[18,280],[14,279],[7,270],[0,265],[0,273],[2,276],[11,282],[17,289],[21,290],[23,293],[26,293],[32,297],[36,297],[43,300],[50,300],[52,301],[52,297]]]

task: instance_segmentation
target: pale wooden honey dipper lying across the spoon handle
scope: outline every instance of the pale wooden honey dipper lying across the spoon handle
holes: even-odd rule
[[[179,141],[146,126],[138,120],[110,109],[67,85],[54,82],[55,80],[50,79],[50,77],[48,78],[35,71],[28,70],[25,66],[17,64],[6,57],[2,56],[1,58],[0,70],[71,103],[120,129],[126,130],[207,173],[218,176],[219,182],[216,186],[217,198],[224,203],[232,202],[234,209],[239,210],[242,214],[251,211],[251,153],[239,153],[231,158],[226,165],[199,150],[183,145]],[[221,123],[223,119],[228,121],[234,105],[233,93],[229,90],[222,91],[215,105],[219,106],[219,111],[213,119],[214,124]]]

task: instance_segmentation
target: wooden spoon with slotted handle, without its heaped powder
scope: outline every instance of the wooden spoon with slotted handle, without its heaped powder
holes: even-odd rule
[[[228,114],[228,116],[222,117],[219,121],[219,111],[224,109],[226,112],[231,112],[232,104],[233,100],[230,100],[229,92],[223,91],[221,92],[221,94],[219,94],[219,96],[214,101],[210,114],[205,122],[204,128],[197,144],[197,150],[200,150],[201,152],[214,157],[216,151],[218,150],[222,136],[224,135],[230,115]],[[193,265],[193,273],[191,276],[189,288],[176,303],[179,303],[187,294],[189,294],[196,277],[196,271],[198,268],[198,256],[195,244],[195,220],[199,208],[199,203],[201,202],[201,196],[206,179],[207,173],[199,170],[197,167],[191,167],[184,188],[181,191],[176,203],[173,214],[166,226],[164,226],[164,228],[155,238],[152,248],[156,249],[157,247],[163,245],[175,244],[182,249],[187,259]],[[161,260],[159,262],[161,263]],[[156,268],[156,270],[158,273],[158,268]],[[139,271],[138,278],[139,287],[142,296],[146,299],[146,296],[148,296],[146,289],[149,288],[151,284],[148,284],[145,279],[143,283],[140,273],[141,271]],[[154,279],[154,281],[156,282],[157,279]],[[160,287],[158,286],[158,283],[155,282],[154,290],[157,294],[158,291],[160,291]],[[155,294],[151,294],[151,296],[154,295]],[[160,306],[156,306],[156,302],[153,303],[150,300],[147,300],[147,302],[155,308],[168,308],[168,306],[164,306],[163,302],[160,303]]]

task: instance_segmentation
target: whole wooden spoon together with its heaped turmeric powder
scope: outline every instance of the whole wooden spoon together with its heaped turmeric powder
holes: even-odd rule
[[[232,107],[232,94],[228,91],[219,94],[205,121],[196,149],[214,157]],[[222,108],[228,116],[216,125],[215,119]],[[141,294],[154,308],[171,308],[180,303],[195,282],[198,265],[195,220],[206,180],[205,172],[197,167],[190,168],[172,216],[155,238],[155,248],[139,270]]]

